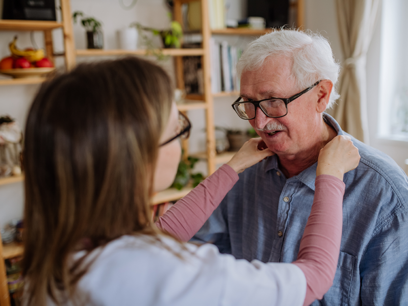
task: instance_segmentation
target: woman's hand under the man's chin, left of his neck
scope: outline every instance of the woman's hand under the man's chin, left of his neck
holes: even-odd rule
[[[261,138],[251,138],[244,143],[231,161],[226,164],[233,168],[235,172],[241,173],[246,168],[259,163],[271,155],[274,155],[274,153],[268,149]]]

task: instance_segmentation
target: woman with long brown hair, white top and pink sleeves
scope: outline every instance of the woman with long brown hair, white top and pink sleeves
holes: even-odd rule
[[[173,181],[176,139],[189,132],[172,93],[164,70],[137,58],[82,64],[41,86],[25,128],[25,305],[301,305],[328,290],[341,180],[359,160],[351,141],[337,137],[321,151],[298,261],[235,260],[181,241],[237,173],[272,152],[247,142],[155,225],[150,198]]]

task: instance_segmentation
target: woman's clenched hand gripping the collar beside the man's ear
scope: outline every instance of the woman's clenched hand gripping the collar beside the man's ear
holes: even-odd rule
[[[355,169],[360,162],[359,149],[349,136],[336,136],[320,150],[316,176],[334,175],[343,181],[343,174]]]

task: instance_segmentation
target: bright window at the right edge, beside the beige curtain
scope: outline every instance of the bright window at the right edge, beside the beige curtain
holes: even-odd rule
[[[408,141],[406,0],[382,2],[379,136]]]

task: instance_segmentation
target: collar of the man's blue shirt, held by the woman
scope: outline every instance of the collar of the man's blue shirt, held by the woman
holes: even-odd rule
[[[339,123],[337,123],[337,121],[333,117],[331,117],[330,115],[328,115],[326,113],[323,113],[323,120],[328,125],[333,127],[333,129],[335,129],[335,131],[337,132],[337,135],[345,135],[345,133],[341,129]],[[300,172],[298,175],[291,177],[288,181],[299,180],[304,185],[308,186],[310,189],[315,191],[316,168],[317,168],[317,162],[314,163],[309,168],[307,168],[307,169],[303,170],[302,172]],[[269,170],[272,170],[272,169],[279,170],[279,165],[278,165],[278,162],[277,162],[277,156],[276,155],[271,156],[266,160],[264,169],[265,169],[265,172],[267,172]]]

